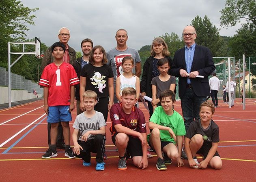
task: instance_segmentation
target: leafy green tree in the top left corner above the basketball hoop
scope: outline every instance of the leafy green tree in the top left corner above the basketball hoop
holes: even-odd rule
[[[0,66],[7,66],[8,42],[25,40],[27,25],[35,25],[36,16],[30,13],[38,9],[24,7],[19,0],[0,0]]]

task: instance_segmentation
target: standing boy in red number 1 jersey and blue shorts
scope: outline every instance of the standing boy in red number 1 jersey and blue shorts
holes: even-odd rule
[[[75,69],[69,63],[63,61],[65,55],[65,45],[55,42],[52,45],[52,55],[54,62],[43,69],[39,85],[43,86],[44,111],[48,115],[47,122],[51,125],[51,146],[42,156],[43,159],[56,157],[56,139],[58,134],[59,121],[63,128],[65,140],[65,156],[74,158],[70,148],[69,121],[71,111],[75,108],[75,85],[79,84],[79,79]]]

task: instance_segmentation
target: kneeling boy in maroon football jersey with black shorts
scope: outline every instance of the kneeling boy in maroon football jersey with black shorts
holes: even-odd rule
[[[136,90],[125,88],[121,96],[122,103],[114,104],[110,109],[112,127],[112,141],[119,153],[118,169],[125,170],[126,154],[131,155],[133,165],[146,169],[147,142],[146,142],[146,121],[143,112],[134,107],[137,102]]]

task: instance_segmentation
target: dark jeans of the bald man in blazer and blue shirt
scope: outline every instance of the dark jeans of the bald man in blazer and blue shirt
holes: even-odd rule
[[[204,101],[206,101],[206,96],[198,97],[193,88],[186,88],[184,95],[181,97],[181,109],[186,132],[190,123],[194,119],[200,118],[199,109]]]

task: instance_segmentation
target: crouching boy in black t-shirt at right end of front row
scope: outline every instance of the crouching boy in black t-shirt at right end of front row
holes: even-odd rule
[[[185,136],[185,149],[189,166],[194,169],[204,169],[209,164],[214,169],[222,168],[222,159],[217,152],[219,142],[219,127],[211,120],[214,115],[214,105],[205,101],[200,106],[200,119],[192,122]],[[196,154],[203,156],[198,163]]]

